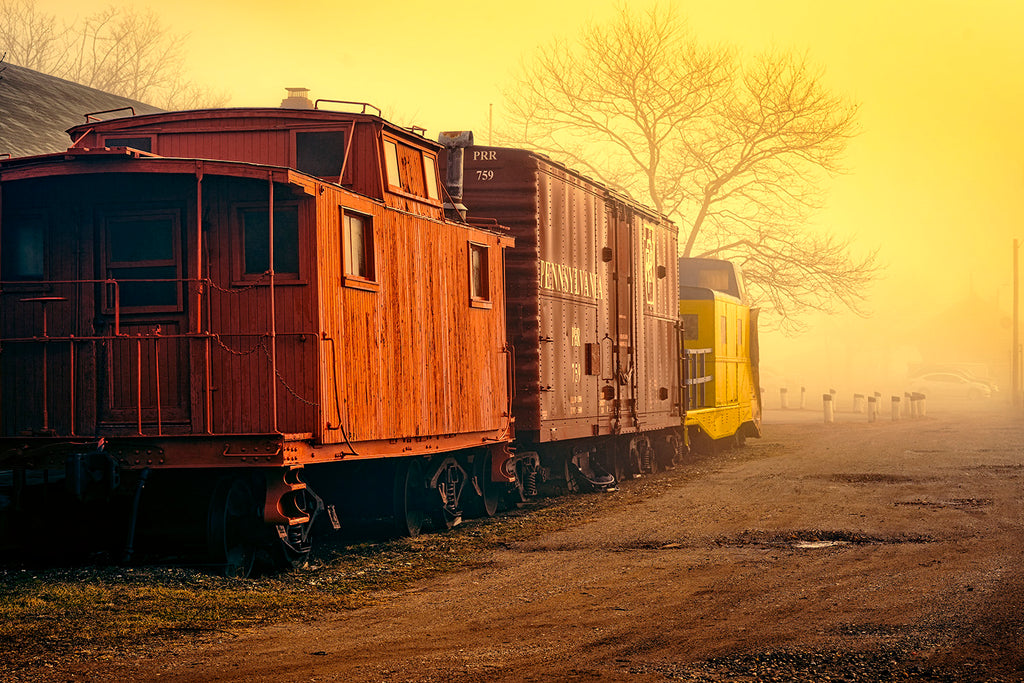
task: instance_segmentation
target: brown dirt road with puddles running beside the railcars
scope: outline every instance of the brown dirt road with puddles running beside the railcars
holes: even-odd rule
[[[68,677],[1024,680],[1022,424],[769,420],[665,495],[379,606]]]

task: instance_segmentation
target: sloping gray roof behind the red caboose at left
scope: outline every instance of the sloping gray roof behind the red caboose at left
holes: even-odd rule
[[[163,111],[31,69],[0,63],[0,155],[31,157],[63,152],[71,146],[68,129],[85,123],[85,114],[122,106],[133,106],[135,114]],[[114,116],[130,115],[122,112]]]

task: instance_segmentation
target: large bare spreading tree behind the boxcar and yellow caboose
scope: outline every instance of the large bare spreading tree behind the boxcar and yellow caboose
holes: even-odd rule
[[[741,61],[672,9],[623,7],[524,63],[501,137],[672,216],[681,255],[739,262],[754,299],[795,330],[807,309],[859,312],[879,269],[876,252],[854,257],[849,240],[807,227],[857,109],[803,56]]]

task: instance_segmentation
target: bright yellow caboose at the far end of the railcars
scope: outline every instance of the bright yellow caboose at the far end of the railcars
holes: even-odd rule
[[[679,259],[686,431],[709,450],[761,436],[758,309],[746,302],[739,269],[729,261]]]

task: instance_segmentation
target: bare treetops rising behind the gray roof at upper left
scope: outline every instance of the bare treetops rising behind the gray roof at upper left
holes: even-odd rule
[[[153,10],[111,5],[60,24],[35,0],[0,0],[0,48],[11,63],[165,109],[223,105],[226,93],[182,76],[187,38]]]

